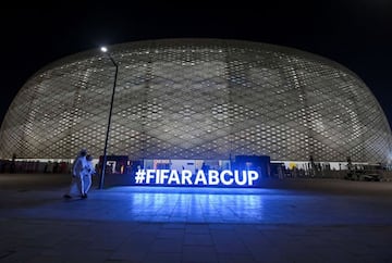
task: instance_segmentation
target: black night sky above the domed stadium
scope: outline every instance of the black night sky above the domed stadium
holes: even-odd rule
[[[54,60],[102,43],[211,37],[287,46],[334,60],[368,85],[392,123],[392,1],[291,2],[2,9],[0,122],[28,77]]]

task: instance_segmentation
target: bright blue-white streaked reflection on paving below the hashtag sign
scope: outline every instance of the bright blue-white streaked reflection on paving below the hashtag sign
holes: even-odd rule
[[[134,193],[132,212],[150,220],[232,222],[262,218],[262,196],[258,195],[187,195]]]

